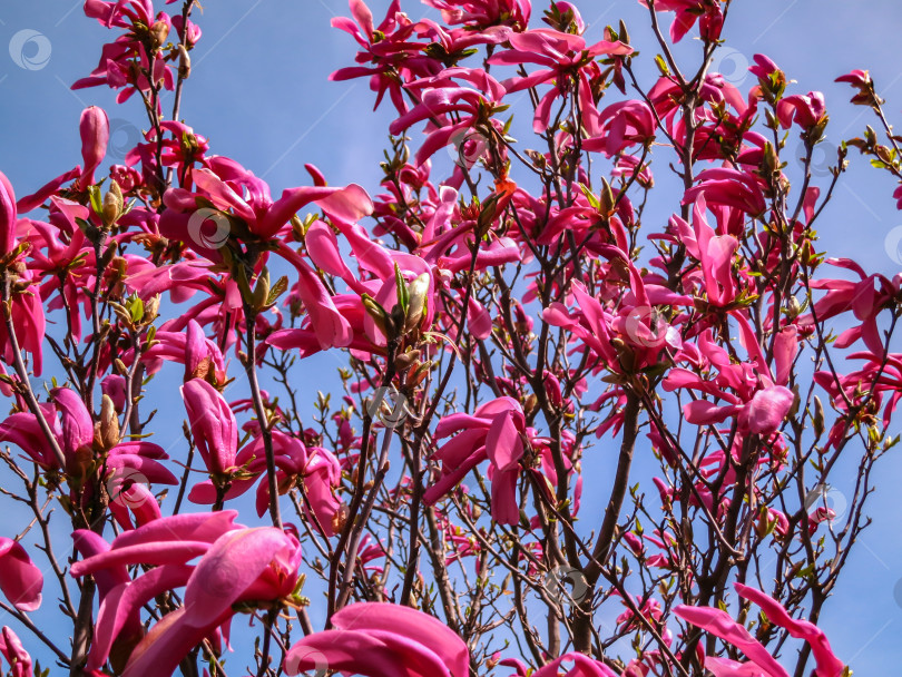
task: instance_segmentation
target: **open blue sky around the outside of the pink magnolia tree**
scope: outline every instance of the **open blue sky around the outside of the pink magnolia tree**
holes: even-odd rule
[[[241,161],[264,177],[275,195],[307,183],[305,163],[316,164],[332,184],[356,181],[373,192],[391,109],[371,112],[373,97],[364,80],[327,81],[330,72],[351,65],[355,51],[350,36],[329,26],[333,16],[347,14],[344,0],[207,0],[204,4],[204,12],[195,17],[204,37],[193,52],[194,72],[183,116],[210,140],[212,153]],[[378,20],[388,4],[388,0],[371,2]],[[600,39],[606,23],[616,24],[622,18],[645,56],[654,51],[645,10],[635,0],[579,4],[591,22],[589,38]],[[831,111],[827,139],[835,144],[860,134],[871,120],[866,109],[847,105],[850,90],[834,85],[833,79],[853,68],[870,68],[880,92],[890,101],[891,116],[902,120],[902,4],[898,0],[736,0],[733,4],[724,37],[735,51],[720,70],[737,86],[752,84],[743,81],[742,70],[752,55],[768,55],[798,81],[796,92],[825,92]],[[168,9],[175,11],[176,7]],[[437,17],[434,10],[414,0],[403,7],[414,19]],[[669,14],[664,22],[669,24]],[[22,29],[39,31],[49,40],[50,59],[45,67],[22,69],[7,53],[6,46]],[[134,145],[137,129],[146,127],[136,99],[115,106],[106,88],[69,90],[69,85],[96,66],[101,43],[115,35],[85,18],[80,1],[7,0],[0,4],[0,169],[17,194],[31,193],[80,163],[78,117],[86,105],[97,104],[108,111],[114,127],[110,155],[117,161],[117,149],[121,154]],[[697,53],[697,43],[686,39],[678,51]],[[646,70],[643,84],[649,86],[653,79],[654,73]],[[854,154],[850,159],[856,167],[863,165]],[[797,165],[791,164],[791,176],[794,170],[797,173]],[[657,167],[656,174],[663,178],[664,167]],[[677,195],[667,192],[666,179],[663,183],[648,226],[655,219],[666,223],[677,204]],[[889,177],[853,170],[821,223],[822,249],[853,257],[874,272],[899,272],[898,254],[893,257],[885,247],[886,238],[902,224],[902,214],[890,199],[892,189]],[[894,346],[896,352],[901,349]],[[321,383],[334,365],[331,361],[311,363],[310,382]],[[310,393],[308,400],[312,396]],[[165,410],[161,413],[168,415]],[[184,412],[176,408],[170,413],[177,429]],[[900,432],[898,422],[892,432]],[[902,592],[894,595],[896,586],[902,586],[900,453],[896,450],[879,467],[878,492],[869,510],[874,524],[861,539],[822,624],[837,655],[859,677],[899,674],[902,665],[902,642],[898,640]],[[842,490],[842,482],[837,487]],[[591,503],[584,508],[592,509],[600,508]],[[9,522],[0,522],[4,536],[21,526],[16,517],[7,519]],[[48,608],[52,610],[51,599],[42,611]],[[52,615],[43,618],[49,620]],[[27,645],[37,646],[22,636]]]

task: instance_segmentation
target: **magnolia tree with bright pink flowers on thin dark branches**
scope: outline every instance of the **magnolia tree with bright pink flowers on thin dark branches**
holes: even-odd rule
[[[729,0],[641,0],[641,56],[569,2],[424,1],[333,21],[332,79],[393,115],[379,189],[308,165],[277,198],[179,116],[194,0],[85,2],[72,87],[147,130],[109,166],[91,106],[80,166],[0,174],[11,674],[850,675],[817,624],[896,441],[902,274],[815,228],[860,155],[902,183],[867,72],[876,129],[813,173],[823,96],[712,67]]]

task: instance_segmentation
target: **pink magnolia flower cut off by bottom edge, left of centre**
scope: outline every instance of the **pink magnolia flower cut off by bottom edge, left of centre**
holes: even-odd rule
[[[285,673],[331,669],[365,677],[467,677],[470,651],[437,618],[409,607],[359,602],[331,619],[332,630],[298,639]]]

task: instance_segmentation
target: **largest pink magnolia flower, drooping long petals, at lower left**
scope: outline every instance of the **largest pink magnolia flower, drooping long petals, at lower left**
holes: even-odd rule
[[[236,516],[223,511],[161,518],[117,537],[111,547],[96,546],[97,553],[71,566],[72,576],[94,575],[98,585],[99,577],[114,577],[101,590],[88,669],[106,663],[126,625],[166,590],[185,587],[184,605],[138,642],[125,676],[167,677],[190,649],[229,621],[234,605],[271,604],[293,593],[301,561],[297,539],[272,527],[242,528],[233,523]],[[85,530],[75,536],[99,539]],[[187,563],[198,556],[197,565]],[[131,580],[126,570],[131,565],[156,567]]]

